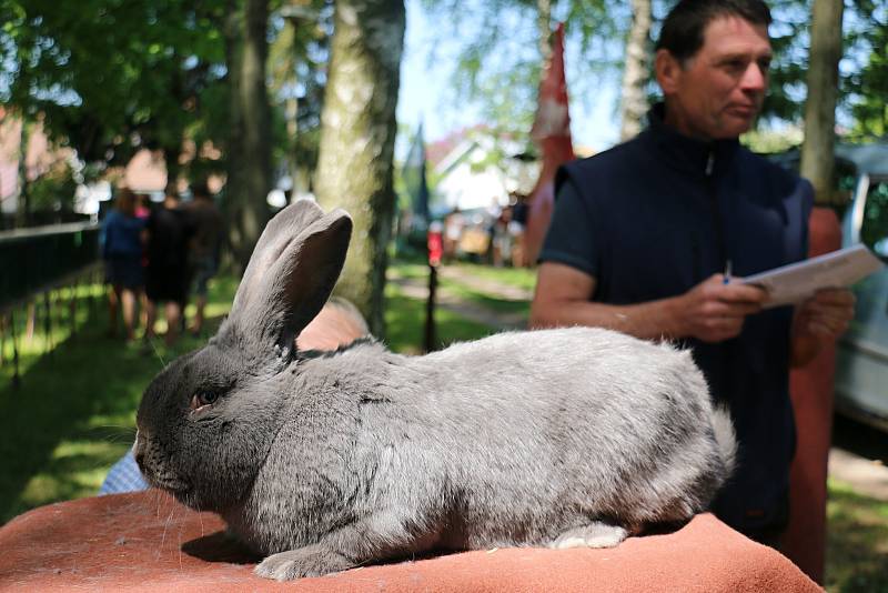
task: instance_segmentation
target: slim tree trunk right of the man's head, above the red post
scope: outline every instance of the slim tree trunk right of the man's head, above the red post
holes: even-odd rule
[[[810,180],[817,203],[824,205],[833,202],[835,191],[836,100],[844,8],[842,0],[815,0],[811,14],[801,177]]]

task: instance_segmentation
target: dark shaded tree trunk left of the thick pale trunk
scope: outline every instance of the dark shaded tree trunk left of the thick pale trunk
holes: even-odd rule
[[[228,147],[226,218],[238,272],[243,272],[269,220],[272,188],[271,108],[265,91],[268,0],[245,0],[226,27],[231,77],[231,134]]]

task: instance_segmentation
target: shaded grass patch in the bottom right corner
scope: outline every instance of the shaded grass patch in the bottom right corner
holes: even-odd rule
[[[830,482],[826,587],[888,591],[888,503]]]

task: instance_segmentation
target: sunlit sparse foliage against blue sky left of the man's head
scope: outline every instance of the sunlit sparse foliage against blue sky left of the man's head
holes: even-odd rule
[[[473,101],[484,122],[504,132],[527,133],[536,110],[543,61],[553,21],[566,21],[565,44],[579,48],[579,73],[569,91],[584,97],[602,76],[622,63],[619,44],[630,13],[620,3],[602,0],[425,0],[430,19],[446,23],[436,44],[466,39],[458,48],[448,101]],[[433,48],[430,60],[436,59]]]

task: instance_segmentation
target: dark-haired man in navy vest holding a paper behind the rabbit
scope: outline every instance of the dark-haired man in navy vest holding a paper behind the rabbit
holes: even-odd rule
[[[766,309],[744,277],[805,259],[810,183],[739,145],[761,108],[771,47],[761,0],[682,0],[655,71],[664,103],[638,137],[558,171],[531,323],[596,325],[690,348],[729,406],[738,466],[716,514],[775,545],[795,425],[789,368],[854,313],[847,290]]]

